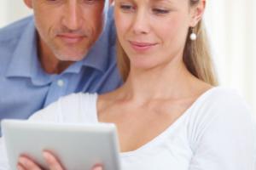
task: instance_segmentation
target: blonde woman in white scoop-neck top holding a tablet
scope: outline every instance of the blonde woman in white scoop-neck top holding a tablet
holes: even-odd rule
[[[123,170],[254,170],[247,105],[235,92],[214,88],[201,23],[205,3],[116,0],[124,85],[99,96],[72,94],[31,119],[115,123]],[[44,156],[50,169],[63,169],[49,152]],[[17,167],[40,169],[25,156]]]

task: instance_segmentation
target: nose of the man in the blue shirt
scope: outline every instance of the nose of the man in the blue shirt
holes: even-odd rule
[[[82,14],[78,4],[68,4],[63,14],[62,24],[69,30],[78,30],[82,24]]]

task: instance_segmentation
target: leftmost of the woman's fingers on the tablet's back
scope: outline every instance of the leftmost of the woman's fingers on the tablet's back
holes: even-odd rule
[[[41,170],[38,165],[26,156],[20,156],[17,168],[19,170]]]

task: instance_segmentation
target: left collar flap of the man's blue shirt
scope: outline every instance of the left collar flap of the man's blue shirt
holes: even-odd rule
[[[38,61],[37,31],[33,17],[20,35],[6,76],[31,78],[34,85],[48,84],[55,77],[45,73]]]

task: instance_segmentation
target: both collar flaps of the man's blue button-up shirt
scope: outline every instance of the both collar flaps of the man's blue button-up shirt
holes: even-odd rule
[[[6,76],[30,77],[35,84],[44,85],[51,82],[56,75],[45,73],[38,61],[37,31],[33,17],[31,18],[32,20],[30,20],[20,36]],[[109,44],[109,33],[111,31],[109,20],[106,24],[108,26],[106,26],[106,29],[102,32],[94,46],[90,48],[87,56],[81,61],[70,65],[61,74],[79,73],[83,66],[88,66],[101,72],[106,71],[110,62],[109,59],[113,59],[113,56],[109,56],[111,48]]]

